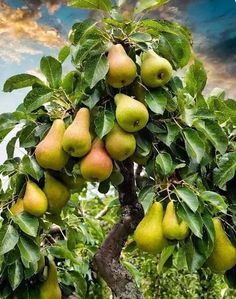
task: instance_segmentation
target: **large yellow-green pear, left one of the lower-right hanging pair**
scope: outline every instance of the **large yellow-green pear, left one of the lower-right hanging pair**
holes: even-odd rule
[[[157,254],[167,245],[162,231],[162,219],[162,204],[155,202],[134,232],[134,240],[141,250]]]

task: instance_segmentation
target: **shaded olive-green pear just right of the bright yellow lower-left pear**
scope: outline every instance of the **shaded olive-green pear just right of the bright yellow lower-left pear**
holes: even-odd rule
[[[60,213],[61,209],[70,199],[68,188],[48,172],[45,173],[43,191],[48,199],[48,212],[52,214]]]

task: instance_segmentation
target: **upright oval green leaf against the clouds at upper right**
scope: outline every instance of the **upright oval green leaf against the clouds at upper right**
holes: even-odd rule
[[[207,74],[202,62],[195,60],[186,73],[185,82],[186,89],[192,97],[201,94],[207,82]]]

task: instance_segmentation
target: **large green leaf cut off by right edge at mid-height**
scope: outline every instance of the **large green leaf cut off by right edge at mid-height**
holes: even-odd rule
[[[214,169],[213,181],[221,189],[224,189],[225,184],[230,181],[236,171],[236,152],[224,154],[219,162],[218,168]]]

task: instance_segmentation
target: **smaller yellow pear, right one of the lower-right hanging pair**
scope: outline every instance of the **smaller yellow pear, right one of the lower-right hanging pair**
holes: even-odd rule
[[[189,234],[187,223],[178,222],[174,202],[170,201],[166,207],[165,216],[162,222],[164,236],[170,240],[184,240]]]

